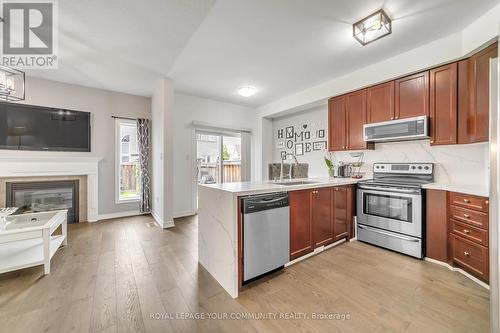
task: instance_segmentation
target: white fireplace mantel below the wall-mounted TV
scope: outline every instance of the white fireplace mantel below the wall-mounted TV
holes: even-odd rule
[[[98,165],[101,157],[1,156],[0,178],[87,176],[87,220],[98,219]]]

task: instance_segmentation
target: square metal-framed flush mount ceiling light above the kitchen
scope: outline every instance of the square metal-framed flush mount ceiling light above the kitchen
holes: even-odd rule
[[[352,25],[352,35],[361,45],[369,44],[392,32],[391,19],[383,9],[368,15]]]

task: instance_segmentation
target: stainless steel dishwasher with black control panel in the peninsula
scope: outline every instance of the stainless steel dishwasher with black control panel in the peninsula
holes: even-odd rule
[[[242,199],[243,281],[282,268],[290,261],[288,193]]]

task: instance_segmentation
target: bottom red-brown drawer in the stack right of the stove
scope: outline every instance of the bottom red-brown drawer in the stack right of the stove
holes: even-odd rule
[[[453,262],[488,281],[488,248],[452,235]]]

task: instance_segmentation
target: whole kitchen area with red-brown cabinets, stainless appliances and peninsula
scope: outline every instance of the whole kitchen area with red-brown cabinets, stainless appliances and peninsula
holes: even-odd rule
[[[236,298],[259,278],[361,241],[489,288],[497,45],[272,119],[268,181],[199,188],[200,264]],[[294,172],[303,164],[307,177]]]

